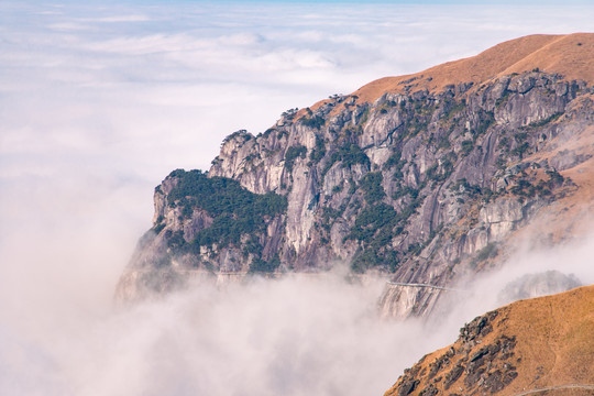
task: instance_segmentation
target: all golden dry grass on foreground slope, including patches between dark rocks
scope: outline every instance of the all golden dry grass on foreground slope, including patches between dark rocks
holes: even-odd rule
[[[516,348],[512,362],[518,376],[503,391],[502,396],[514,396],[528,391],[563,386],[568,384],[594,385],[594,286],[580,287],[562,294],[520,300],[497,310],[494,330],[480,344],[470,350],[472,355],[483,345],[493,343],[502,336],[515,337]],[[452,344],[462,349],[459,340]],[[422,375],[429,365],[444,355],[450,346],[436,351],[419,363],[420,385],[413,395],[418,395],[430,381]],[[457,353],[450,367],[463,359]],[[435,384],[440,395],[469,394],[463,374],[446,391],[443,381]],[[385,396],[397,395],[397,384]],[[479,393],[480,394],[480,393]],[[538,395],[592,395],[594,389],[556,389]]]

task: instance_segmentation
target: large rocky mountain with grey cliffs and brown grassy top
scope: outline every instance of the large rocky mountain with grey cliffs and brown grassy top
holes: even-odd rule
[[[428,315],[519,244],[585,230],[593,55],[594,34],[526,36],[229,135],[208,172],[156,187],[118,298],[346,262],[392,278],[383,315]]]

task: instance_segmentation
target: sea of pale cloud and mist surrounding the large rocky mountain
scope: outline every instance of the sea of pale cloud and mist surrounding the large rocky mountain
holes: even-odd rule
[[[205,286],[114,311],[154,186],[208,168],[224,135],[288,108],[520,35],[584,31],[588,10],[3,1],[0,394],[383,392],[460,323],[378,321],[378,282]],[[587,282],[583,246],[571,272]]]

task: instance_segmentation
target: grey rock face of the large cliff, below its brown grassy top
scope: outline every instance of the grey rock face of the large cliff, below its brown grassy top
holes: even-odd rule
[[[287,201],[265,229],[237,242],[196,248],[197,235],[220,219],[198,201],[184,211],[170,197],[183,178],[167,177],[155,193],[153,234],[119,290],[139,282],[174,288],[188,271],[320,272],[339,261],[355,273],[444,286],[487,267],[510,233],[568,194],[558,170],[588,158],[557,152],[535,160],[592,123],[592,106],[576,105],[591,95],[583,82],[530,72],[480,87],[408,91],[373,103],[337,97],[285,114],[264,133],[228,136],[208,177]],[[152,286],[138,280],[139,271],[176,280]],[[388,288],[381,300],[385,312],[406,317],[429,312],[439,295]]]

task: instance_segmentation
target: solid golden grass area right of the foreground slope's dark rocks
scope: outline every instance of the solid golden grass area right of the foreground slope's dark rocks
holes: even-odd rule
[[[522,362],[518,377],[502,395],[594,384],[594,286],[518,301],[509,308],[505,331],[516,334]]]

